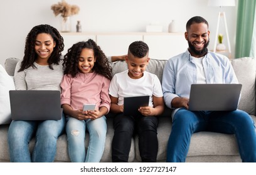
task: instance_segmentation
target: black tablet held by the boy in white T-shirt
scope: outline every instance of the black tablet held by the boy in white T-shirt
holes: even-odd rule
[[[136,96],[124,98],[124,115],[137,116],[138,109],[142,106],[149,106],[149,96]]]

